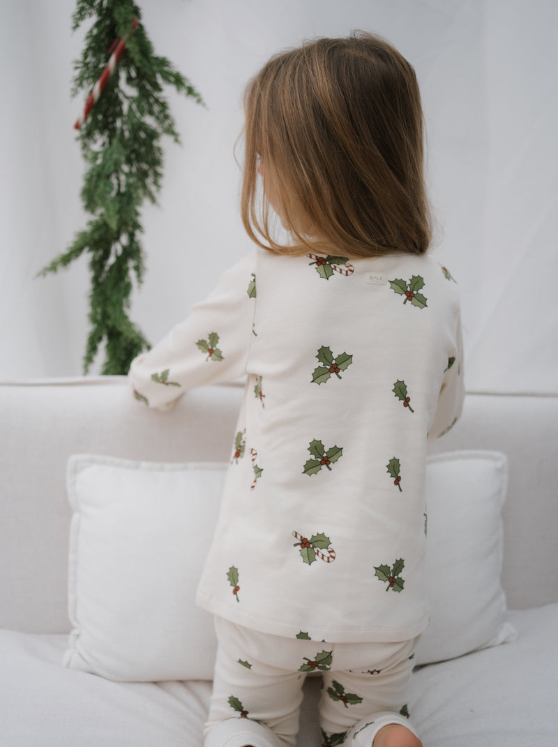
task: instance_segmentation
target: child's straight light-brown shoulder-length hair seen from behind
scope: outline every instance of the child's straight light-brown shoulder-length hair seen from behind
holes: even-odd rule
[[[420,93],[391,44],[355,32],[275,55],[248,84],[244,106],[241,214],[260,247],[348,257],[427,251]],[[289,244],[272,236],[271,195]]]

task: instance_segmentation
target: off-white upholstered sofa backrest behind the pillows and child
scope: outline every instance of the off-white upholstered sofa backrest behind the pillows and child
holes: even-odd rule
[[[156,462],[228,462],[242,385],[192,389],[172,412],[131,397],[125,378],[0,385],[0,627],[69,630],[66,462],[98,453]],[[431,451],[507,453],[503,582],[510,607],[558,601],[558,397],[468,394]],[[479,581],[482,583],[482,580]]]

